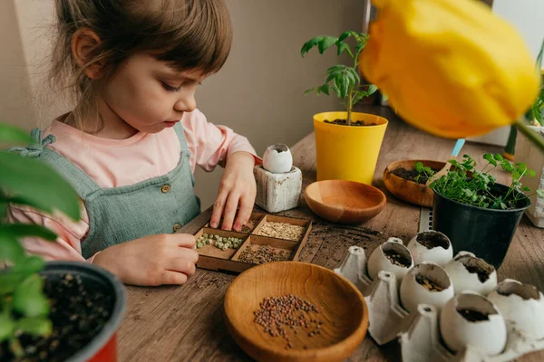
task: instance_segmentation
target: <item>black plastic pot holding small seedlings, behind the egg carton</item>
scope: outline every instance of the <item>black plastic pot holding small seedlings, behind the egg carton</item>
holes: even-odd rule
[[[505,195],[508,188],[496,184],[492,190]],[[435,192],[432,229],[450,238],[453,252],[473,252],[499,269],[521,216],[529,206],[530,200],[525,195],[516,209],[491,210],[464,205]]]

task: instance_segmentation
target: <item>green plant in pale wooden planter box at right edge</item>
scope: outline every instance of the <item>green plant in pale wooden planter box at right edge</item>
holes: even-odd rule
[[[544,43],[542,43],[539,57],[537,58],[537,70],[540,71],[539,97],[535,100],[526,115],[526,119],[531,119],[527,128],[531,129],[536,137],[540,138],[541,143],[544,143],[544,81],[542,81],[544,79],[544,71],[541,71],[543,52]],[[516,129],[512,129],[511,132],[510,138],[513,137],[513,141],[509,141],[507,151],[510,149],[513,153],[513,149],[515,148],[517,160],[537,172],[536,177],[529,180],[527,185],[531,188],[544,188],[544,152],[536,148],[533,142],[531,142],[530,134],[522,133],[518,135]],[[532,195],[530,201],[532,205],[526,211],[529,220],[536,226],[544,228],[544,196]]]

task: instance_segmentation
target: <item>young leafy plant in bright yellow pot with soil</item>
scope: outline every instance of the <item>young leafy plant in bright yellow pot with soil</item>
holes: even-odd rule
[[[355,39],[355,50],[347,39]],[[365,33],[347,31],[339,37],[316,36],[306,42],[301,55],[312,48],[319,53],[335,45],[337,54],[346,53],[353,66],[336,64],[326,71],[325,83],[306,90],[305,94],[330,95],[331,92],[343,100],[346,111],[319,113],[314,116],[316,131],[317,180],[344,179],[372,184],[374,169],[382,147],[387,119],[372,114],[354,112],[357,102],[372,95],[374,84],[361,84],[357,71],[357,60],[368,40]]]

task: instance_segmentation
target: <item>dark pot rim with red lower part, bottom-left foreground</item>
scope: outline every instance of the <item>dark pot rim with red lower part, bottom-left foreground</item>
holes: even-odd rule
[[[76,352],[67,361],[114,362],[117,360],[116,332],[126,309],[124,285],[112,273],[88,262],[47,262],[44,271],[47,281],[60,280],[61,276],[70,273],[80,276],[83,284],[92,290],[104,288],[114,297],[112,316],[102,330],[92,338],[84,348]]]

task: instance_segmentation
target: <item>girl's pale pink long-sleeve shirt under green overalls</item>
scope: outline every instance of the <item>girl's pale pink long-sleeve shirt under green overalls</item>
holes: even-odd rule
[[[256,155],[247,138],[227,127],[209,123],[199,110],[186,112],[181,125],[185,130],[193,173],[196,166],[211,171],[238,151]],[[92,136],[54,120],[44,130],[44,137],[49,134],[56,137],[49,148],[81,168],[102,188],[130,186],[163,176],[180,160],[180,142],[174,129],[159,133],[138,132],[120,140]],[[41,224],[58,235],[56,243],[24,239],[27,252],[39,254],[45,260],[84,261],[82,243],[89,231],[89,215],[83,201],[81,211],[80,221],[73,222],[60,213],[44,214],[25,206],[11,205],[8,219],[11,223]]]

